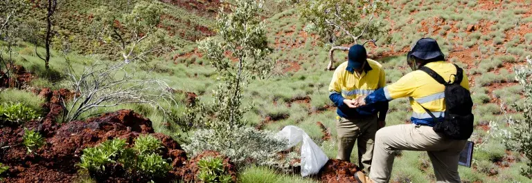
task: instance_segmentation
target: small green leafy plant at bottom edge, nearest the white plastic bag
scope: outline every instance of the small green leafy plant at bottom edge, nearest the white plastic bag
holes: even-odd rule
[[[197,166],[199,166],[197,179],[202,182],[233,182],[231,175],[224,171],[224,162],[220,157],[204,157],[197,162]]]

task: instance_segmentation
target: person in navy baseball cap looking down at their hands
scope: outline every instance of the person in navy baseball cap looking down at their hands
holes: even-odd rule
[[[337,159],[350,161],[351,151],[358,140],[358,164],[369,172],[375,133],[384,126],[388,102],[355,108],[357,97],[384,87],[386,79],[382,66],[367,59],[364,46],[351,46],[348,61],[336,68],[329,85],[329,98],[337,106]]]

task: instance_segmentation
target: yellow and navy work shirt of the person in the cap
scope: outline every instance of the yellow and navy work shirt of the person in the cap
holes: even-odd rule
[[[378,88],[386,85],[386,78],[382,66],[372,59],[366,59],[366,65],[359,76],[348,69],[348,61],[340,64],[336,68],[329,85],[329,98],[337,106],[339,117],[354,119],[357,116],[375,115],[379,113],[379,119],[384,121],[388,111],[388,102],[378,102],[362,106],[360,108],[349,108],[344,104],[344,99],[356,99],[362,95],[370,95]]]

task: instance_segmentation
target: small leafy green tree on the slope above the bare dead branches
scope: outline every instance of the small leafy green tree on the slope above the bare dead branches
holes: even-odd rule
[[[93,10],[91,29],[98,41],[120,48],[125,63],[144,60],[166,49],[166,32],[157,28],[163,14],[158,1],[139,1],[124,14],[117,14],[102,6]]]

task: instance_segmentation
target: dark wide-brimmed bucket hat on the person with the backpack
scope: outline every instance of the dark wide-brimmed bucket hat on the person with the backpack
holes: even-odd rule
[[[432,38],[419,39],[411,48],[410,52],[408,52],[407,57],[411,56],[424,60],[444,57],[443,52],[440,50],[440,46],[438,46],[438,42]]]

